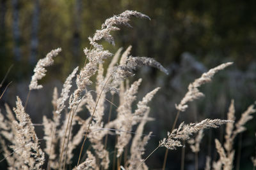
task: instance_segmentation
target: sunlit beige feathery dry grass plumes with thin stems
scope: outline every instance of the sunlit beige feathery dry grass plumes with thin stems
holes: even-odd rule
[[[242,114],[238,122],[234,117],[234,101],[232,101],[227,120],[205,118],[195,123],[182,122],[175,128],[180,112],[188,109],[188,103],[204,96],[198,88],[211,81],[214,74],[230,66],[232,62],[210,69],[189,84],[184,98],[179,104],[175,104],[177,115],[173,118],[173,125],[170,126],[172,129],[167,132],[166,138],[159,138],[159,145],[153,148],[147,157],[144,156],[145,146],[153,136],[152,132],[144,134],[145,124],[154,120],[149,116],[149,103],[161,89],[157,87],[145,94],[136,103],[134,110],[132,104],[136,102],[143,80],[140,78],[129,83],[128,78],[134,76],[136,70],[142,66],[155,67],[165,74],[168,74],[168,71],[152,58],[133,57],[130,54],[132,46],[129,46],[123,53],[120,48],[113,55],[99,43],[104,39],[111,45],[115,45],[111,31],[118,31],[120,29],[118,25],[131,27],[129,24],[131,17],[150,20],[147,15],[138,11],[124,11],[108,18],[102,24],[101,29],[88,38],[90,47],[84,48],[83,67],[73,69],[61,90],[56,87],[52,90],[52,117],[42,118],[43,139],[38,139],[29,113],[26,113],[26,105],[29,102],[29,94],[33,93],[33,90],[43,88],[38,80],[45,76],[47,71],[45,67],[54,63],[53,59],[61,52],[61,48],[52,50],[44,59],[38,61],[28,86],[29,92],[25,103],[22,103],[17,96],[13,110],[6,104],[6,116],[3,113],[0,114],[0,142],[4,155],[1,162],[6,161],[8,169],[71,169],[72,165],[76,165],[72,167],[73,169],[109,169],[110,167],[113,169],[115,167],[116,169],[148,169],[146,164],[148,157],[160,147],[176,150],[184,147],[188,142],[197,158],[204,131],[209,128],[218,128],[223,124],[227,125],[226,141],[223,148],[220,141],[215,139],[220,159],[213,162],[212,167],[232,169],[234,138],[246,130],[244,124],[252,119],[252,113],[255,112],[253,105]],[[104,69],[104,61],[110,57],[112,57],[111,62],[105,66],[107,69]],[[92,81],[93,76],[96,77],[95,82]],[[76,82],[72,83],[74,80]],[[92,85],[95,89],[89,90],[92,89]],[[111,96],[111,100],[108,96]],[[118,104],[114,97],[118,99]],[[106,104],[109,104],[109,108]],[[86,111],[84,111],[85,108]],[[115,118],[110,115],[112,110],[116,111]],[[86,118],[77,114],[85,115],[85,112],[89,113]],[[106,113],[109,114],[107,122],[104,121]],[[75,125],[79,127],[78,131],[74,131]],[[133,138],[132,134],[134,134]],[[115,148],[110,150],[107,147],[109,135],[115,135],[116,138]],[[154,136],[157,138],[157,134]],[[41,148],[41,141],[45,141],[45,148]],[[79,153],[75,155],[74,150],[79,150]],[[111,159],[112,153],[109,153],[112,150],[114,150],[114,159]],[[255,166],[255,158],[252,160]],[[166,161],[167,152],[163,169]],[[198,169],[198,159],[195,160],[195,169]],[[211,169],[210,157],[207,157],[205,169]]]

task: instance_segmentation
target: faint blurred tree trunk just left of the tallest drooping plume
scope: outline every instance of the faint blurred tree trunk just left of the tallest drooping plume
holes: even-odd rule
[[[79,56],[81,46],[81,15],[83,3],[81,0],[76,0],[74,5],[74,32],[73,32],[73,55]]]

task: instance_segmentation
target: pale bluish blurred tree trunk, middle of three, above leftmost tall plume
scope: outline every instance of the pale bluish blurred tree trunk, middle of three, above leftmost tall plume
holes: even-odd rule
[[[39,25],[40,6],[39,0],[34,0],[34,11],[31,29],[31,52],[29,57],[29,63],[35,65],[36,55],[38,48],[38,25]]]

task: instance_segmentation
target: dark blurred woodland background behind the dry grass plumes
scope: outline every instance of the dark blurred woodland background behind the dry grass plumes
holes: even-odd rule
[[[180,102],[189,82],[223,62],[233,61],[234,65],[216,74],[211,83],[200,88],[205,97],[190,103],[189,109],[180,115],[179,123],[226,118],[231,99],[235,99],[239,119],[256,99],[255,6],[253,0],[0,0],[0,80],[13,64],[1,94],[10,81],[13,83],[0,106],[3,108],[4,103],[15,106],[17,95],[25,101],[36,62],[52,49],[61,47],[63,51],[54,59],[54,66],[47,68],[47,76],[40,81],[44,89],[33,91],[28,103],[33,122],[42,123],[42,115],[51,117],[53,87],[61,90],[72,69],[83,66],[83,48],[88,46],[88,36],[93,36],[106,18],[125,10],[137,10],[151,20],[132,18],[132,29],[121,26],[120,31],[113,32],[116,46],[104,41],[102,44],[113,53],[121,46],[132,45],[131,55],[153,57],[170,72],[166,76],[156,69],[143,67],[131,78],[131,81],[143,78],[138,100],[155,87],[161,87],[150,103],[150,117],[156,120],[146,125],[145,133],[153,131],[156,137],[148,142],[146,155],[170,131],[177,112],[174,104]],[[236,167],[235,163],[236,169],[252,168],[250,157],[255,154],[255,118],[246,127],[248,131],[241,137],[241,165]],[[224,130],[222,127],[205,131],[199,153],[200,169],[204,168],[206,155],[218,158],[213,139],[223,138]],[[36,127],[36,131],[41,138],[42,127]],[[237,144],[238,138],[234,145],[236,149]],[[161,168],[164,152],[165,148],[161,148],[148,159],[150,169]],[[181,149],[169,153],[166,169],[180,168],[180,153]],[[185,161],[185,169],[194,168],[189,146],[186,147]]]

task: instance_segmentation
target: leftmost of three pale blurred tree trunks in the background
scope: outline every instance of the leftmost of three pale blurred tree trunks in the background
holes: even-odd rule
[[[19,29],[19,0],[12,0],[13,6],[13,23],[12,23],[12,31],[13,31],[13,53],[15,60],[20,61],[20,29]]]

